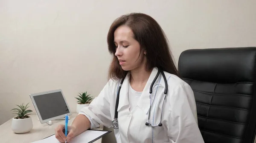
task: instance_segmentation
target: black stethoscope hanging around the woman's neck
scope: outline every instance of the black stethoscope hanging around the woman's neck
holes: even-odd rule
[[[163,99],[163,104],[164,104],[164,101],[166,99],[166,94],[167,94],[167,90],[168,90],[168,85],[167,85],[167,80],[166,80],[166,76],[164,75],[163,73],[163,70],[160,70],[158,69],[157,71],[157,75],[155,76],[154,80],[152,81],[151,85],[150,85],[150,89],[149,89],[149,94],[150,94],[150,98],[151,98],[151,94],[152,94],[152,89],[153,89],[153,86],[154,86],[154,83],[155,81],[157,80],[157,77],[159,76],[159,74],[162,74],[163,75],[163,80],[164,80],[164,84],[165,84],[165,89],[164,89],[164,99]],[[119,87],[118,87],[118,92],[117,92],[117,96],[116,96],[116,108],[115,108],[115,116],[114,116],[114,120],[112,121],[112,127],[114,129],[118,129],[119,128],[119,125],[118,125],[118,120],[117,120],[117,116],[118,116],[118,112],[117,112],[117,108],[118,108],[118,104],[119,104],[119,94],[120,94],[120,90],[121,90],[121,87],[122,87],[122,83],[124,81],[125,78],[122,79],[121,83],[119,84]],[[149,107],[149,113],[148,113],[148,122],[146,122],[146,126],[151,126],[151,127],[155,127],[155,126],[162,126],[162,115],[163,115],[163,104],[162,104],[162,111],[161,111],[161,116],[160,116],[160,122],[156,125],[153,125],[150,123],[149,121],[149,118],[150,118],[150,111],[151,111],[151,104],[150,104],[150,107]]]

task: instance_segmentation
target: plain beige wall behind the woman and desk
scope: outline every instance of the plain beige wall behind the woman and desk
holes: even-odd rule
[[[256,46],[255,6],[255,0],[0,0],[0,124],[14,116],[15,104],[32,106],[30,93],[61,88],[73,112],[78,93],[97,96],[111,62],[108,28],[122,14],[157,20],[177,64],[186,49]]]

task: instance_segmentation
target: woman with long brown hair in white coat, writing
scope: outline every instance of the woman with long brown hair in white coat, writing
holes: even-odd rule
[[[117,143],[204,143],[193,91],[178,76],[165,34],[150,16],[131,13],[108,32],[109,81],[63,133],[64,143],[87,129],[113,127]]]

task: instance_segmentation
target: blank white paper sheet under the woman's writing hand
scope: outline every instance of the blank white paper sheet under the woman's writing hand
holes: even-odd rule
[[[108,131],[97,131],[97,130],[87,130],[82,132],[80,135],[74,137],[69,143],[89,143],[90,141],[104,135]],[[32,143],[60,143],[55,135],[47,137],[43,140],[38,140]]]

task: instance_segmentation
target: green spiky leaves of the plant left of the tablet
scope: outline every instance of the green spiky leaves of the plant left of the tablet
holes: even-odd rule
[[[28,113],[32,112],[32,110],[27,110],[29,108],[28,104],[26,104],[26,106],[24,106],[24,104],[17,105],[19,109],[18,108],[11,109],[11,111],[13,110],[13,112],[15,112],[14,114],[17,114],[17,117],[15,117],[15,119],[29,118],[29,115],[31,114],[28,114]]]

